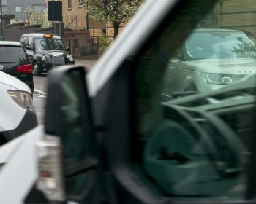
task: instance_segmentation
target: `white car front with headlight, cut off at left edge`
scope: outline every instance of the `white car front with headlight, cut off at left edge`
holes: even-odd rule
[[[0,145],[3,145],[33,129],[38,122],[29,87],[2,71],[0,71],[0,95]]]

